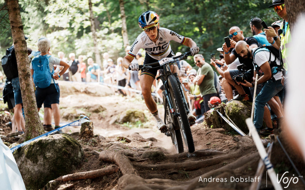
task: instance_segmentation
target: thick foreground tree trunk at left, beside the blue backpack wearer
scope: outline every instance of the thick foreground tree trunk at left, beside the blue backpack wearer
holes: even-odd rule
[[[23,25],[21,21],[18,0],[5,0],[9,12],[13,42],[18,65],[20,89],[25,115],[25,140],[30,140],[42,135],[41,121],[38,116],[34,86],[30,74],[29,58],[27,56],[27,43],[24,38]]]

